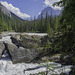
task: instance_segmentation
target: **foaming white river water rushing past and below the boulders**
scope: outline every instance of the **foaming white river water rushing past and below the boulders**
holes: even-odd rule
[[[0,41],[11,42],[11,36],[3,37]],[[43,65],[42,65],[43,64]],[[54,73],[60,74],[61,72],[68,73],[71,69],[71,66],[62,66],[61,64],[55,62],[49,62],[48,64],[56,67]],[[46,71],[47,67],[45,63],[18,63],[13,64],[9,55],[4,52],[2,59],[0,60],[0,75],[29,75],[35,74],[42,71]],[[49,74],[53,72],[50,71]]]

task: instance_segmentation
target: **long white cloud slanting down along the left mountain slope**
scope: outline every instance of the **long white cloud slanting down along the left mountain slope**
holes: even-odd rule
[[[8,4],[6,1],[0,2],[3,6],[5,6],[9,11],[13,12],[17,16],[19,16],[22,19],[30,18],[30,15],[21,13],[20,9],[17,7],[14,7],[12,4]]]

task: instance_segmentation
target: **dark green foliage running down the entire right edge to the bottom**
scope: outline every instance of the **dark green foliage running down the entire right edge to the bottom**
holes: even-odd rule
[[[57,37],[53,42],[55,50],[69,55],[71,54],[73,69],[69,75],[75,74],[75,0],[61,0],[55,3],[63,6],[62,16],[60,18],[61,36]],[[55,5],[54,4],[54,5]],[[64,56],[64,55],[63,55]],[[68,60],[69,61],[69,60]],[[66,75],[66,74],[61,74]]]

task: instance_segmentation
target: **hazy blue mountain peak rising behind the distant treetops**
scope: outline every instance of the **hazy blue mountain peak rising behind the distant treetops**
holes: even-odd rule
[[[61,11],[62,11],[62,10],[59,10],[59,9],[54,10],[54,9],[51,8],[51,7],[47,7],[47,8],[45,8],[44,10],[42,10],[41,14],[42,14],[43,18],[46,17],[46,13],[48,14],[48,16],[50,16],[51,13],[52,13],[52,16],[54,17],[55,15],[58,15],[58,16],[59,16],[59,15],[61,14]],[[40,19],[40,18],[41,18],[41,14],[38,16],[37,19]]]

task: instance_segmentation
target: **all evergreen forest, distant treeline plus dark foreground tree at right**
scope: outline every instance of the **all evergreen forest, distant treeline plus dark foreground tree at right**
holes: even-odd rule
[[[60,16],[53,17],[48,16],[39,20],[12,20],[11,17],[7,17],[0,11],[0,32],[3,31],[15,31],[15,32],[39,32],[48,33],[50,36],[56,36],[53,42],[49,44],[52,50],[60,52],[62,56],[72,55],[72,65],[74,65],[70,75],[75,74],[75,0],[61,0],[53,4],[54,6],[63,7],[63,11]],[[52,12],[51,12],[52,13]],[[46,45],[46,46],[47,46]],[[47,46],[48,48],[48,46]]]

